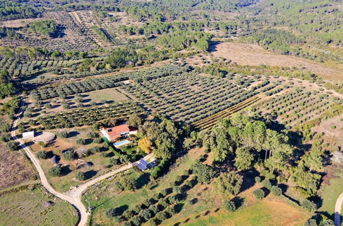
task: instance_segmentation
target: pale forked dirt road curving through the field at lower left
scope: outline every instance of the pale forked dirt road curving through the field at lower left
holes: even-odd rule
[[[69,203],[71,203],[71,205],[73,205],[73,207],[76,209],[76,211],[78,212],[78,216],[79,216],[79,220],[78,223],[76,223],[76,225],[80,225],[80,226],[84,226],[86,225],[87,222],[87,218],[88,215],[90,214],[87,210],[86,207],[84,206],[84,204],[81,201],[81,197],[82,194],[87,190],[87,188],[93,186],[94,184],[99,183],[100,181],[102,181],[103,179],[106,179],[108,177],[112,177],[113,175],[116,175],[117,173],[123,172],[123,171],[127,171],[128,169],[132,168],[132,166],[134,164],[126,164],[124,166],[121,166],[113,171],[110,171],[108,173],[105,173],[104,175],[100,175],[99,177],[95,177],[94,179],[91,179],[89,181],[86,181],[84,184],[80,184],[79,186],[64,192],[64,193],[60,193],[58,191],[56,191],[51,184],[49,184],[49,181],[47,180],[47,177],[45,176],[45,173],[42,169],[42,167],[39,164],[38,159],[36,158],[36,156],[32,153],[32,151],[29,149],[29,147],[27,147],[25,145],[25,142],[23,142],[23,140],[19,139],[16,137],[16,133],[15,133],[15,128],[16,125],[19,122],[19,119],[21,118],[21,116],[23,115],[23,105],[24,105],[24,100],[23,98],[21,99],[21,108],[19,110],[19,113],[16,114],[16,118],[14,120],[14,123],[12,125],[12,129],[11,129],[11,135],[12,135],[12,139],[19,142],[21,144],[21,147],[25,150],[25,153],[27,154],[27,156],[29,157],[29,159],[32,161],[32,163],[34,164],[34,167],[36,167],[39,177],[40,177],[40,181],[43,184],[43,186],[51,193],[54,194],[56,197],[67,201]],[[152,153],[150,153],[149,155],[146,155],[144,160],[151,160],[153,159],[153,155]]]

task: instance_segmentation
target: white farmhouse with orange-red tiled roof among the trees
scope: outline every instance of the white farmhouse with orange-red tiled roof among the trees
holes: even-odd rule
[[[100,129],[100,133],[107,138],[108,141],[113,142],[118,138],[128,138],[131,134],[137,134],[138,130],[129,125],[117,125],[111,128]]]

